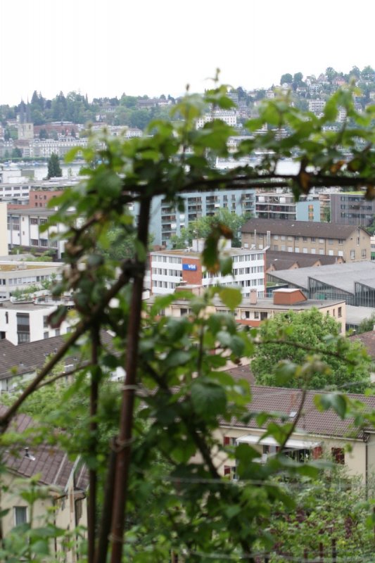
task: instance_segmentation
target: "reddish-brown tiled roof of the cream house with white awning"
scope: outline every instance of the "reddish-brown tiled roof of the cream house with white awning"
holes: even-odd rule
[[[325,410],[320,412],[314,404],[314,397],[324,395],[322,391],[307,391],[303,413],[297,424],[298,431],[307,434],[320,436],[335,436],[340,438],[356,438],[364,439],[364,431],[353,427],[353,419],[341,419],[333,410]],[[298,411],[302,398],[300,389],[288,389],[284,387],[267,387],[253,385],[251,387],[251,403],[248,404],[249,412],[274,412],[282,415],[288,415],[291,411]],[[364,396],[355,393],[349,393],[348,397],[360,400],[364,403],[367,410],[375,409],[375,396]],[[228,422],[223,422],[227,426]],[[254,428],[254,422],[243,424],[243,422],[234,421],[230,426],[241,427],[244,429]]]

